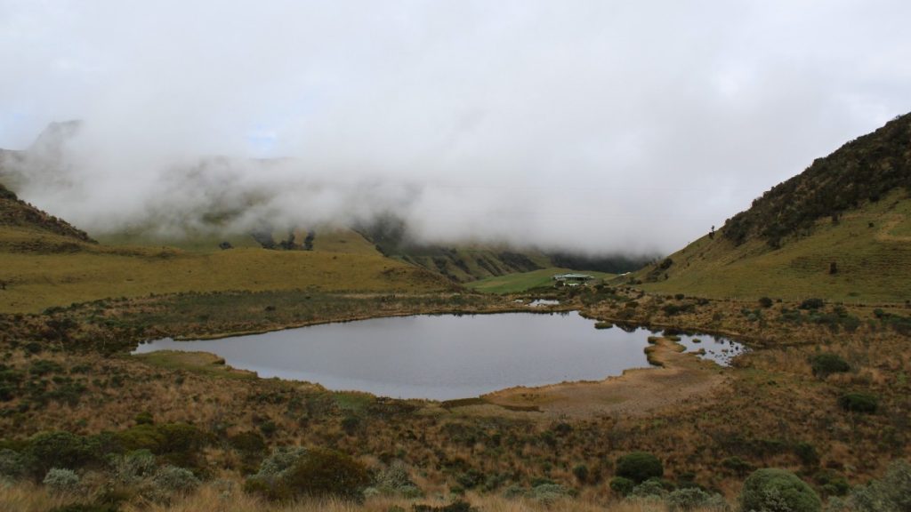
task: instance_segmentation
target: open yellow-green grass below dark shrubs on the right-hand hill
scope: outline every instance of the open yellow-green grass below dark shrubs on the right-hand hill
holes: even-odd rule
[[[870,227],[870,223],[873,227]],[[739,247],[722,236],[703,237],[670,255],[668,279],[645,283],[654,292],[708,297],[903,302],[911,298],[911,198],[896,190],[846,212],[837,224],[817,221],[810,236],[772,250],[753,239]],[[835,262],[838,271],[829,274]],[[637,273],[645,281],[654,267]]]

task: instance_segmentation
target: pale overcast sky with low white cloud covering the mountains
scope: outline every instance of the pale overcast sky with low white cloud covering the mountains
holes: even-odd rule
[[[88,230],[254,190],[283,221],[673,251],[911,110],[908,20],[906,0],[0,0],[0,148],[84,119],[67,179],[21,192]],[[293,160],[186,177],[213,155]]]

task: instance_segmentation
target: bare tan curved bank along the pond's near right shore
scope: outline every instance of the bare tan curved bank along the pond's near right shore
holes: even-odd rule
[[[627,370],[600,382],[508,388],[484,395],[488,405],[476,405],[476,412],[492,412],[490,409],[499,406],[496,408],[511,411],[537,410],[531,414],[546,417],[646,415],[691,397],[711,400],[712,390],[726,380],[721,367],[695,354],[681,353],[680,344],[665,338],[646,350],[663,367]]]

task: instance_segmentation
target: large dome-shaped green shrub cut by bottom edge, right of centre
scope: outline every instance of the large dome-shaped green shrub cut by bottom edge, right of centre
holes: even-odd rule
[[[742,510],[820,512],[822,501],[810,486],[784,469],[757,469],[743,482]]]

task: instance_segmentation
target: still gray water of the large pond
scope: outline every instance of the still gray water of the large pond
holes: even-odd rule
[[[628,368],[647,367],[643,349],[650,331],[595,329],[594,321],[568,313],[420,315],[326,323],[224,338],[142,343],[135,353],[158,350],[216,353],[235,368],[261,377],[319,383],[399,398],[449,400],[516,385],[601,380]],[[726,364],[737,343],[701,336],[688,350],[704,348]]]

